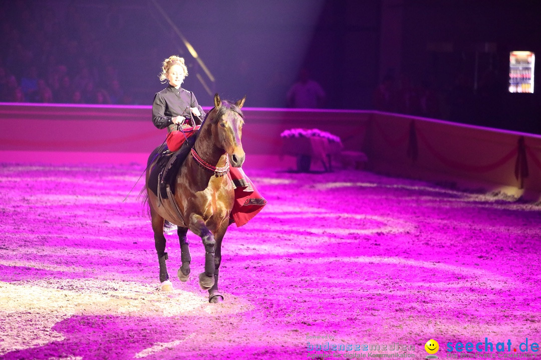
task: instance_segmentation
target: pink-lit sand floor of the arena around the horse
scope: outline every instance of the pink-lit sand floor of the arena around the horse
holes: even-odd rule
[[[302,359],[335,344],[541,343],[541,208],[360,171],[248,170],[268,205],[229,228],[209,304],[158,289],[143,166],[0,167],[0,358]],[[360,355],[363,351],[349,351]],[[367,352],[364,351],[367,355]],[[371,351],[395,354],[397,351]],[[530,351],[530,354],[532,352]]]

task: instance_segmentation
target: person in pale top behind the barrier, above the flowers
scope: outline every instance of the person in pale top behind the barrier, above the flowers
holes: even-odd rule
[[[301,69],[299,81],[287,92],[287,105],[298,108],[321,108],[326,101],[325,91],[316,81],[310,79],[308,70]]]

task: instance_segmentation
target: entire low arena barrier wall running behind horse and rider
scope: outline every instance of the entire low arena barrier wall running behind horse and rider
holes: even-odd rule
[[[248,168],[293,169],[295,158],[283,154],[280,133],[319,128],[338,135],[344,150],[366,153],[367,167],[375,172],[529,198],[541,193],[539,135],[377,111],[243,112]],[[0,162],[144,164],[165,137],[151,123],[150,106],[0,104]]]

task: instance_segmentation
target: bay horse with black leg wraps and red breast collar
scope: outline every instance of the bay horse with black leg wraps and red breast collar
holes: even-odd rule
[[[201,289],[208,290],[209,302],[223,301],[218,290],[221,244],[230,224],[229,215],[235,198],[227,173],[229,166],[241,167],[245,160],[241,142],[244,117],[240,110],[245,100],[246,97],[231,104],[215,94],[214,108],[207,114],[199,133],[194,135],[197,138],[192,151],[176,174],[175,193],[169,192],[167,199],[159,198],[149,188],[150,173],[156,166],[156,161],[151,159],[153,155],[149,158],[145,201],[150,207],[163,291],[173,290],[167,273],[168,255],[163,235],[164,222],[168,221],[177,226],[179,235],[182,261],[177,271],[179,280],[186,282],[190,275],[192,258],[186,238],[190,229],[201,237],[205,249],[204,271],[199,274],[199,285]]]

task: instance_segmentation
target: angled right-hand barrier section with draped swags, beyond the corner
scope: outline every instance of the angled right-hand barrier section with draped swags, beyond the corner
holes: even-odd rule
[[[376,172],[541,193],[539,135],[373,112],[364,148]]]

